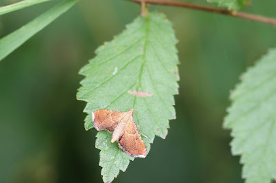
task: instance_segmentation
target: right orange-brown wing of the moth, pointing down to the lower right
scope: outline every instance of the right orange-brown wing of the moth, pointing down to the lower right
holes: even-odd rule
[[[146,145],[137,131],[133,118],[126,125],[126,130],[119,140],[119,147],[132,157],[146,158]]]

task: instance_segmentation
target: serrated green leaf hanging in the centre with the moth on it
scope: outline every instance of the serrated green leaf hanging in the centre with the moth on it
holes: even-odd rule
[[[80,71],[86,76],[77,93],[79,100],[87,102],[85,128],[92,128],[92,111],[134,108],[134,120],[148,137],[141,136],[147,151],[155,135],[166,138],[168,120],[175,118],[173,95],[178,90],[176,43],[171,23],[162,14],[150,13],[99,47],[97,56]],[[150,96],[137,96],[137,92]],[[126,171],[129,160],[133,160],[110,140],[108,132],[97,133],[104,182],[111,182],[119,170]]]

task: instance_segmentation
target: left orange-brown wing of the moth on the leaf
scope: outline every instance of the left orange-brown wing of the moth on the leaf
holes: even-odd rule
[[[114,131],[124,112],[100,109],[92,112],[92,123],[97,131]]]

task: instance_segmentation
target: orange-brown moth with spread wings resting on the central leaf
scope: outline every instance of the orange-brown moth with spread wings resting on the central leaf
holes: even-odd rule
[[[92,112],[92,123],[97,131],[112,133],[111,142],[117,141],[119,147],[135,158],[146,158],[146,145],[137,131],[133,120],[134,109],[126,112],[100,109]]]

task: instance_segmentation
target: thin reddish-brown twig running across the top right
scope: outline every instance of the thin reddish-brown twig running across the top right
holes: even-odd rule
[[[262,23],[267,23],[270,25],[276,25],[276,19],[263,17],[256,14],[249,14],[246,12],[237,12],[234,10],[228,10],[226,8],[215,8],[211,6],[202,6],[194,3],[184,3],[179,1],[166,1],[166,0],[127,0],[135,3],[148,3],[148,4],[157,4],[162,6],[177,6],[181,8],[190,8],[195,10],[202,10],[206,12],[215,12],[218,14],[225,14],[231,17],[238,17],[241,19],[248,19],[251,21],[257,21]]]

